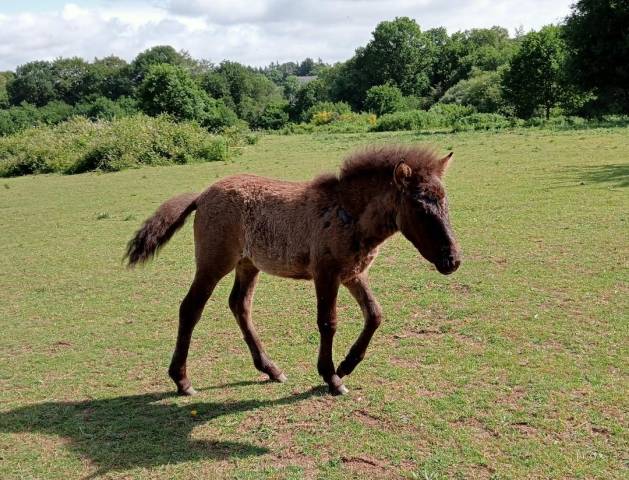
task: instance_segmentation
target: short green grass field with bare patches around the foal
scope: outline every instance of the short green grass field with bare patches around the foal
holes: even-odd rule
[[[191,223],[121,264],[171,195],[250,172],[307,179],[352,148],[429,142],[464,261],[400,235],[371,269],[385,321],[326,395],[311,283],[263,275],[254,320],[289,377],[253,368],[228,307],[195,332],[196,397],[166,375]],[[264,136],[232,162],[0,181],[0,478],[627,478],[629,129]],[[362,319],[339,300],[335,360]]]

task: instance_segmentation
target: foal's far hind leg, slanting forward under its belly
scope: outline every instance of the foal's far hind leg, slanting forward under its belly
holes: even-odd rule
[[[238,321],[238,326],[253,357],[253,364],[271,380],[285,382],[286,376],[267,356],[251,320],[251,303],[259,270],[249,260],[243,259],[236,266],[234,287],[229,295],[229,308]]]

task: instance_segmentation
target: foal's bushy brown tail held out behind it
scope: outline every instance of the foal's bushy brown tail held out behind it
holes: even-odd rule
[[[197,208],[198,193],[184,193],[167,200],[157,209],[127,244],[129,267],[150,260],[171,239],[186,217]]]

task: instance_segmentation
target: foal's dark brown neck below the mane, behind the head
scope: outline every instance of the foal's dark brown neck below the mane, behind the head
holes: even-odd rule
[[[375,248],[397,232],[398,193],[393,182],[362,176],[343,182],[341,204],[355,219],[361,244]]]

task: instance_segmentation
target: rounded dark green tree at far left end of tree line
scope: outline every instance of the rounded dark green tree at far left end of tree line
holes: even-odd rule
[[[20,65],[7,84],[11,105],[22,102],[41,107],[56,98],[55,72],[50,62],[35,61]]]

